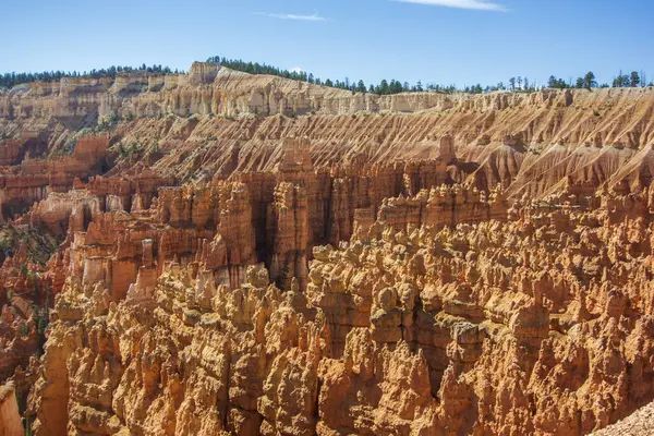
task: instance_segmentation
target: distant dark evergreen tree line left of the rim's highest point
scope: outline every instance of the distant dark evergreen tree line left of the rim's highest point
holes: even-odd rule
[[[111,77],[116,78],[119,73],[129,72],[146,72],[152,75],[166,75],[166,74],[178,74],[179,71],[172,71],[168,66],[152,65],[148,66],[145,63],[141,66],[121,66],[112,65],[107,69],[90,70],[84,72],[77,71],[44,71],[40,73],[4,73],[0,74],[0,87],[11,88],[23,83],[32,82],[58,82],[62,77],[83,77],[83,78],[102,78]]]

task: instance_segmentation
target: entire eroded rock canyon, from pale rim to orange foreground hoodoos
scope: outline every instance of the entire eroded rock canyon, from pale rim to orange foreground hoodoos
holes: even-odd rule
[[[0,435],[604,435],[654,400],[652,88],[194,63],[0,90]]]

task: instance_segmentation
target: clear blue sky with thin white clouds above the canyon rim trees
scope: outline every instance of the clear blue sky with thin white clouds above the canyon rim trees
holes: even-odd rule
[[[378,83],[544,82],[620,69],[654,80],[653,0],[142,0],[5,2],[0,72],[220,55]]]

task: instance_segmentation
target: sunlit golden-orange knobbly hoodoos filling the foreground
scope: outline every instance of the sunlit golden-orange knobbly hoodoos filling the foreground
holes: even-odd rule
[[[53,398],[73,434],[264,435],[588,434],[651,401],[651,230],[560,199],[506,211],[358,222],[313,250],[305,292],[181,257],[148,281],[144,241],[126,299],[76,276],[58,296],[51,336],[73,336],[46,344],[37,434]]]

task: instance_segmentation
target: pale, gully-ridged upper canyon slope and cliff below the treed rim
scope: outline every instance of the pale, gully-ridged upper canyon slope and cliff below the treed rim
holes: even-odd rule
[[[486,191],[500,184],[516,198],[562,184],[584,195],[604,184],[626,193],[650,180],[650,88],[376,96],[201,63],[187,75],[63,82],[0,93],[5,162],[43,153],[38,141],[19,140],[25,132],[59,150],[99,122],[113,150],[100,172],[116,175],[143,164],[182,181],[270,171],[283,155],[280,140],[304,136],[319,167],[433,159],[434,140],[447,134],[469,164],[457,181]]]

